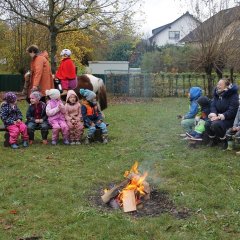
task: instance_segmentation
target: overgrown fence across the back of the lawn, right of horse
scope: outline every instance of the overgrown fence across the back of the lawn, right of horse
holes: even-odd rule
[[[212,75],[212,85],[217,84],[218,78]],[[237,83],[236,76],[234,82]],[[189,88],[201,87],[208,94],[208,79],[206,74],[196,73],[107,73],[105,74],[107,92],[113,95],[130,97],[182,97],[186,96]],[[240,83],[240,81],[239,81]],[[211,95],[211,94],[210,94]]]

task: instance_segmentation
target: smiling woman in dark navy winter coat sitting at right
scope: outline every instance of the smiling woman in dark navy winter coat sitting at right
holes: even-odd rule
[[[206,132],[210,138],[209,146],[219,142],[222,149],[227,148],[226,131],[233,126],[238,111],[238,88],[228,79],[219,80],[214,90],[209,121],[206,123]]]

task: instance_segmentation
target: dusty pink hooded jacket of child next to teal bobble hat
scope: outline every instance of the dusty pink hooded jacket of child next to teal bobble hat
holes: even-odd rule
[[[69,103],[68,99],[71,95],[75,95],[77,98],[77,102],[75,104]],[[81,121],[81,104],[79,103],[79,99],[77,94],[73,90],[69,90],[67,93],[66,104],[65,104],[65,118],[68,125],[71,125],[72,120]]]

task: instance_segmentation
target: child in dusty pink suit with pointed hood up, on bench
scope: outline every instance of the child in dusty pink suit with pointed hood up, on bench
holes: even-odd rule
[[[67,93],[65,104],[65,118],[69,127],[70,144],[80,144],[83,135],[83,122],[81,114],[81,104],[77,94],[73,90]]]

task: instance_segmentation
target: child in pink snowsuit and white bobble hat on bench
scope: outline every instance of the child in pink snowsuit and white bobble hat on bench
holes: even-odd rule
[[[60,99],[60,92],[57,89],[46,90],[46,95],[50,98],[47,103],[46,113],[48,122],[52,126],[52,145],[56,145],[59,132],[62,132],[63,143],[68,145],[68,126],[65,120],[65,106]]]

